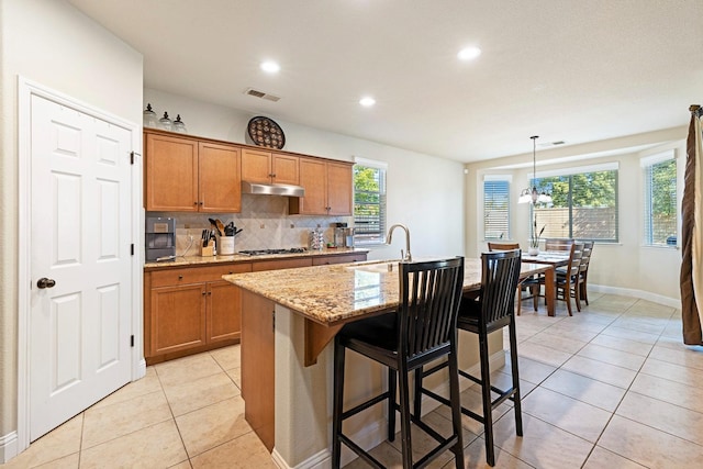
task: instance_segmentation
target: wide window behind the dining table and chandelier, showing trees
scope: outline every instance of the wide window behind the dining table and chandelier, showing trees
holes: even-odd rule
[[[537,227],[545,226],[543,238],[617,242],[617,164],[554,171],[536,186],[553,199],[534,209]]]

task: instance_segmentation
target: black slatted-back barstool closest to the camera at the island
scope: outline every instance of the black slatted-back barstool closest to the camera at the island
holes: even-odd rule
[[[464,282],[464,257],[423,263],[400,263],[398,312],[346,324],[334,340],[334,402],[332,465],[341,464],[342,444],[369,465],[383,466],[343,433],[343,421],[371,405],[388,402],[388,439],[395,438],[395,411],[400,411],[403,468],[425,467],[447,449],[457,468],[464,468],[461,410],[457,364],[457,315]],[[514,290],[513,290],[514,291]],[[352,409],[344,410],[345,351],[354,350],[388,368],[388,390]],[[442,436],[411,414],[409,373],[431,361],[447,357],[453,434]],[[367,377],[359,377],[366,379]],[[397,379],[400,405],[397,403]],[[413,465],[411,422],[437,442]]]

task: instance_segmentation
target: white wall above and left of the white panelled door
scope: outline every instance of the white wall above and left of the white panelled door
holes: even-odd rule
[[[0,44],[2,440],[16,429],[18,76],[138,124],[143,60],[140,53],[63,0],[0,0]]]

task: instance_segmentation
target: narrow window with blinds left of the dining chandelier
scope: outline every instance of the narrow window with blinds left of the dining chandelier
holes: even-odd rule
[[[510,239],[510,179],[483,178],[483,238]]]

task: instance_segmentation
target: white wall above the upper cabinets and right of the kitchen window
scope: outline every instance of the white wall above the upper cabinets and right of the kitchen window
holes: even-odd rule
[[[144,108],[180,114],[188,133],[247,143],[246,124],[256,113],[196,101],[160,90],[144,90]],[[388,223],[410,228],[414,256],[464,254],[464,167],[457,161],[325,132],[267,115],[286,134],[284,150],[353,161],[354,157],[388,163]],[[398,258],[402,233],[392,246],[373,246],[370,259]]]

